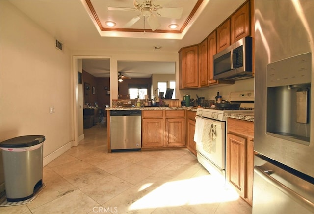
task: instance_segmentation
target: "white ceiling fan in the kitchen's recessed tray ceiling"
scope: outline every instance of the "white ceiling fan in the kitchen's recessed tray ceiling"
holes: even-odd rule
[[[149,26],[151,27],[153,31],[161,26],[157,19],[157,16],[172,18],[172,19],[180,19],[183,12],[183,8],[181,7],[162,7],[159,5],[155,5],[153,3],[153,0],[142,0],[142,1],[134,0],[134,8],[108,7],[108,10],[139,11],[141,12],[141,14],[133,17],[129,22],[127,22],[124,25],[124,27],[131,27],[138,20],[144,17],[144,23],[145,23],[145,20],[147,20]],[[153,12],[156,13],[157,16]]]

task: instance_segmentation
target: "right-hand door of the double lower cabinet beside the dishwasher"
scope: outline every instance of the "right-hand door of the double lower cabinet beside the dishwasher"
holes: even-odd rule
[[[166,146],[185,146],[185,119],[166,119]]]

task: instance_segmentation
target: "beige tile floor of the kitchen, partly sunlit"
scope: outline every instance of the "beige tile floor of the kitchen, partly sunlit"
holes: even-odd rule
[[[1,214],[251,214],[187,149],[107,152],[103,123],[44,167],[46,187],[31,203]]]

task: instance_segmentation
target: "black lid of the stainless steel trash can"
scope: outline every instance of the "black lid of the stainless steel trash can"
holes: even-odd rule
[[[42,143],[45,140],[46,138],[43,135],[19,136],[1,142],[0,147],[4,148],[29,147]]]

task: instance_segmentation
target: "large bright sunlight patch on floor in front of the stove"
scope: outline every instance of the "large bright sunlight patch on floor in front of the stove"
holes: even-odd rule
[[[238,198],[233,189],[217,182],[214,176],[206,175],[167,182],[135,201],[129,210],[220,203]]]

